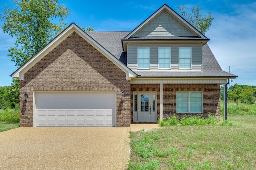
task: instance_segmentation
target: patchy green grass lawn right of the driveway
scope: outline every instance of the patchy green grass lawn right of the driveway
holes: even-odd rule
[[[165,126],[131,132],[128,169],[256,169],[256,115],[215,125]]]

